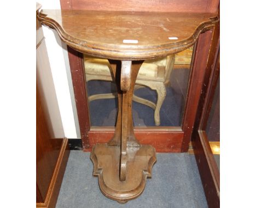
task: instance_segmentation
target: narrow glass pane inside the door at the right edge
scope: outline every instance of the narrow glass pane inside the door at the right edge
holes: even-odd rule
[[[219,127],[219,79],[214,92],[211,111],[206,125],[206,134],[210,142],[210,146],[213,152],[214,159],[216,160],[219,168],[220,162],[220,127]]]

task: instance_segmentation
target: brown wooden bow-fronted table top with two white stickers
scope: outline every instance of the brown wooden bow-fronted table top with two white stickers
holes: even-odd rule
[[[210,13],[41,10],[43,25],[75,50],[118,60],[145,60],[185,50],[218,21]]]

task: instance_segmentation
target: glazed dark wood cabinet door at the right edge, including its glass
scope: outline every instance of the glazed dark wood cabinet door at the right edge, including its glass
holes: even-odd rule
[[[219,207],[220,195],[220,58],[219,23],[207,65],[199,107],[197,108],[192,144],[209,207]]]

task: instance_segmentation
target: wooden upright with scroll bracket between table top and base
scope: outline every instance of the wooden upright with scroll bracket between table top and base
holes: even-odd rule
[[[133,132],[132,96],[136,77],[143,61],[117,61],[109,60],[118,91],[118,119],[114,137],[108,142],[109,146],[121,146],[120,152],[120,181],[126,179],[127,146],[139,147]]]

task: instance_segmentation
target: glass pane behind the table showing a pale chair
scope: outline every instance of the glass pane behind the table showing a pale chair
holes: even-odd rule
[[[134,126],[181,126],[192,53],[193,47],[144,61],[132,102]],[[118,101],[108,60],[84,55],[84,65],[91,126],[114,126]]]

